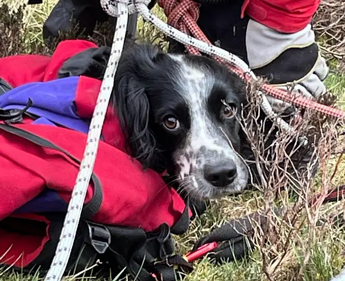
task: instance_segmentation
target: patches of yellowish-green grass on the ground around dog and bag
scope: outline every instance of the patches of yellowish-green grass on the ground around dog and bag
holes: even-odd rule
[[[11,3],[11,7],[15,9],[18,5],[14,1],[6,0]],[[39,6],[29,6],[24,10],[24,26],[23,33],[24,42],[27,44],[27,51],[31,52],[34,47],[42,44],[41,27],[47,18],[50,10],[54,6],[55,0],[45,0],[44,4]],[[154,13],[160,18],[165,19],[162,9],[155,7]],[[164,37],[147,22],[143,22],[139,18],[138,34],[140,37],[166,48],[167,42]],[[337,62],[332,62],[332,69],[336,69]],[[332,71],[326,81],[327,87],[338,98],[338,105],[345,109],[345,75],[338,71]],[[329,163],[330,168],[335,165],[335,158]],[[342,160],[337,177],[334,179],[335,184],[345,183],[345,161]],[[319,178],[316,179],[316,181]],[[337,203],[339,205],[339,203]],[[183,236],[175,237],[177,250],[185,253],[191,249],[193,242],[205,236],[210,230],[216,226],[222,225],[230,218],[237,218],[248,215],[264,205],[264,198],[259,191],[246,191],[242,195],[236,197],[228,197],[220,200],[213,200],[211,207],[201,218],[197,218],[191,225],[190,230]],[[336,204],[328,204],[324,208],[324,213],[334,212]],[[316,239],[313,242],[310,259],[306,264],[304,274],[299,277],[305,281],[326,281],[332,276],[338,274],[345,265],[345,232],[331,224],[324,227],[316,228]],[[286,256],[284,263],[276,268],[276,280],[293,280],[295,273],[304,263],[306,248],[303,243],[308,240],[308,225],[305,225],[297,233],[298,239],[296,243],[292,242],[289,247],[289,254]],[[199,261],[195,270],[186,276],[186,281],[244,281],[244,280],[266,280],[263,273],[263,259],[260,251],[254,251],[246,260],[225,263],[221,266],[215,266],[206,258]],[[79,277],[69,279],[82,279]],[[87,280],[86,278],[84,278]],[[298,280],[299,280],[298,279]],[[26,281],[38,280],[37,276],[24,276],[12,272],[0,272],[0,281]],[[100,280],[99,280],[100,281]]]

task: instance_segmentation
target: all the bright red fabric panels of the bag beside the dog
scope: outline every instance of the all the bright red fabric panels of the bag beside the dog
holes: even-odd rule
[[[0,77],[12,86],[49,81],[56,78],[64,61],[93,47],[95,45],[88,41],[68,40],[57,46],[51,58],[35,55],[3,58],[0,59]],[[100,86],[99,80],[80,77],[76,108],[81,117],[92,117]],[[16,126],[46,138],[82,159],[86,134],[31,122],[25,118],[24,124]],[[103,201],[92,219],[104,224],[141,227],[146,231],[155,230],[162,223],[175,224],[184,210],[184,201],[174,189],[165,185],[159,174],[152,170],[143,171],[140,163],[125,153],[124,137],[111,109],[107,110],[102,134],[104,142],[99,144],[94,173],[101,181]],[[36,146],[4,131],[0,131],[0,167],[6,167],[6,173],[0,177],[0,220],[47,187],[69,201],[79,170],[78,165],[63,153]],[[92,196],[93,188],[89,185],[85,202]],[[17,261],[17,266],[26,266],[34,260],[49,240],[48,235],[24,237],[4,230],[0,231],[0,236],[0,253],[12,244],[6,256],[18,257],[23,251],[27,253]]]

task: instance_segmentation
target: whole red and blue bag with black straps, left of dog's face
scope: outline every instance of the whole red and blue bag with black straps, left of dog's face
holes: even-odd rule
[[[39,266],[42,274],[50,267],[101,84],[89,77],[56,79],[56,75],[64,60],[96,47],[68,40],[51,58],[0,59],[0,77],[16,86],[0,95],[0,116],[6,120],[0,122],[3,265],[24,271]],[[32,105],[26,108],[29,98]],[[96,259],[111,261],[115,271],[126,267],[125,273],[138,275],[139,280],[152,279],[151,273],[171,275],[173,264],[190,268],[182,257],[172,255],[170,235],[187,230],[188,204],[158,173],[144,171],[124,152],[112,110],[106,113],[92,180],[80,208],[66,273],[83,270]]]

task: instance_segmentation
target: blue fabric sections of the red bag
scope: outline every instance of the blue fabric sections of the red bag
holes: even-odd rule
[[[40,116],[32,124],[58,125],[88,133],[90,120],[81,119],[75,106],[78,81],[79,77],[68,77],[16,87],[0,96],[0,108],[23,109],[30,98],[33,104],[28,112]],[[18,208],[15,214],[66,212],[67,206],[67,202],[62,200],[57,192],[47,188]]]

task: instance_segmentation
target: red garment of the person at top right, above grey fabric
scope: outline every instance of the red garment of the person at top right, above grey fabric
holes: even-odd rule
[[[242,14],[283,33],[304,29],[316,12],[320,0],[245,0]]]

